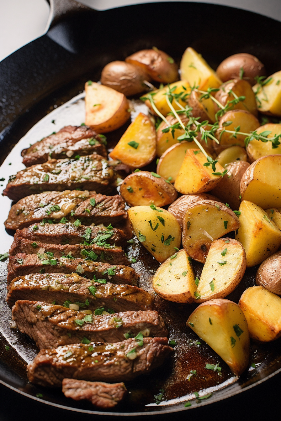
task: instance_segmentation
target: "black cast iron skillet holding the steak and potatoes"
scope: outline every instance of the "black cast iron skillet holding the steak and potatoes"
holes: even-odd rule
[[[122,60],[142,48],[156,45],[179,61],[185,48],[191,45],[214,69],[225,57],[248,52],[265,63],[268,75],[281,69],[281,23],[255,13],[184,2],[150,3],[98,12],[73,0],[50,2],[48,32],[0,63],[1,163],[38,120],[83,91],[86,80],[99,80],[105,64]],[[130,253],[138,255],[135,269],[142,272],[140,286],[149,290],[157,267],[155,260],[139,246]],[[200,274],[201,267],[195,264],[196,274]],[[241,284],[227,298],[238,302],[243,290],[254,285],[256,269],[247,269]],[[4,290],[1,294],[5,294]],[[206,405],[238,394],[281,371],[278,340],[262,346],[252,343],[250,363],[255,362],[257,368],[249,367],[234,383],[223,362],[220,362],[222,378],[217,373],[206,373],[205,364],[218,362],[217,355],[203,341],[199,350],[198,338],[184,327],[195,306],[168,303],[158,297],[156,307],[171,330],[170,338],[177,342],[174,357],[149,377],[128,384],[131,394],[115,412],[94,411],[87,402],[68,400],[59,391],[29,384],[24,361],[14,351],[13,343],[9,352],[5,352],[7,342],[3,336],[0,336],[0,382],[25,396],[60,408],[101,415],[148,415],[193,409],[198,405],[194,402],[185,408],[184,403],[178,402],[166,407],[161,404],[145,407],[155,402],[154,395],[161,388],[165,399],[171,400],[202,388],[208,390],[216,383],[229,383],[224,389],[218,386],[212,397],[199,403]],[[20,344],[27,346],[28,339],[19,335],[17,346]],[[29,344],[29,349],[33,352],[34,346]],[[186,381],[194,369],[197,377]],[[38,393],[43,394],[42,399],[36,397]]]

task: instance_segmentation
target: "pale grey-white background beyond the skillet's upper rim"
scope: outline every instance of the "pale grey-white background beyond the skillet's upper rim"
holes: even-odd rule
[[[199,2],[238,7],[281,21],[281,0],[199,0]],[[129,4],[150,3],[150,0],[82,0],[81,3],[97,10],[105,10]],[[0,0],[0,61],[22,45],[43,35],[48,14],[49,5],[46,0]],[[235,22],[230,24],[231,30],[235,30],[235,24]],[[222,31],[224,30],[227,28],[222,27]],[[256,29],[245,28],[245,34],[249,30]]]

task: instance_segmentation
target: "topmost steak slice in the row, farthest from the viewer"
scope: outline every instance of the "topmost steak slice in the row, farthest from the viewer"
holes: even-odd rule
[[[24,149],[21,156],[26,167],[43,164],[51,158],[60,159],[75,155],[96,153],[107,159],[102,138],[88,126],[66,126]]]

